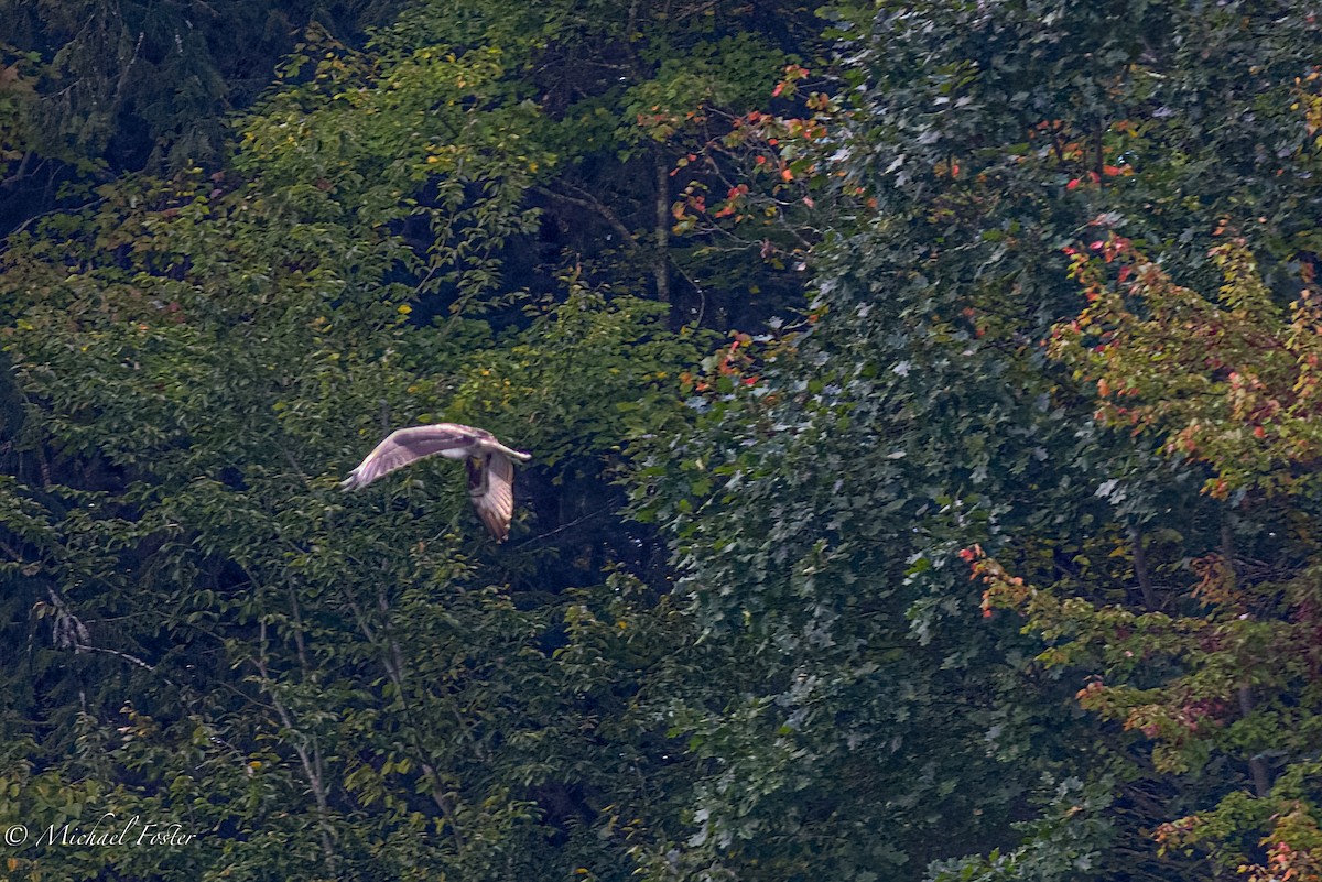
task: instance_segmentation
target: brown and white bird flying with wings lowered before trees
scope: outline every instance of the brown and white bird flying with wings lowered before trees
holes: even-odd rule
[[[514,515],[514,459],[527,462],[533,454],[506,448],[486,429],[459,423],[397,429],[340,482],[340,489],[361,490],[397,469],[438,453],[447,459],[465,462],[468,498],[473,500],[486,532],[497,543],[505,541],[509,520]]]

